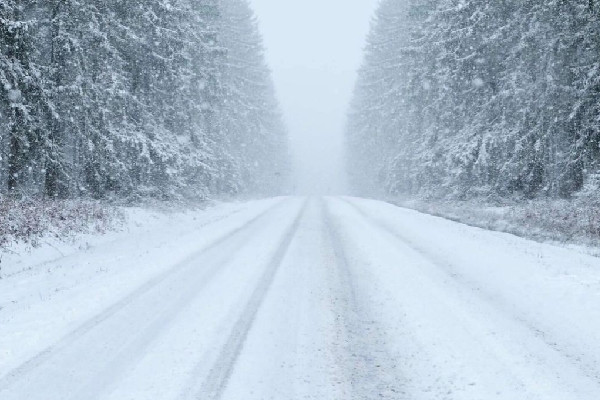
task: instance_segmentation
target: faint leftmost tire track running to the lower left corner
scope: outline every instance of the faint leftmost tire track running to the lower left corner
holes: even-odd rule
[[[265,218],[268,214],[272,213],[275,209],[281,207],[286,200],[282,200],[275,205],[269,207],[267,210],[260,212],[258,215],[252,217],[250,220],[244,222],[241,226],[229,231],[228,233],[222,235],[221,237],[215,239],[213,242],[199,250],[198,252],[190,255],[184,261],[175,265],[174,267],[160,273],[159,275],[151,278],[149,281],[144,283],[139,288],[135,289],[126,297],[114,303],[112,306],[108,307],[100,314],[95,317],[87,320],[82,325],[80,325],[75,330],[71,331],[67,335],[65,335],[62,339],[60,339],[57,343],[47,347],[45,350],[41,351],[37,355],[33,356],[29,360],[22,363],[20,366],[12,369],[4,376],[0,378],[0,391],[5,390],[10,387],[12,384],[17,382],[20,378],[25,376],[29,371],[34,370],[39,365],[45,363],[49,359],[51,359],[55,354],[59,353],[61,350],[68,348],[71,343],[86,335],[88,332],[92,331],[95,327],[100,325],[102,322],[106,321],[124,307],[129,304],[135,302],[140,297],[144,296],[146,293],[150,292],[154,288],[161,285],[168,278],[177,275],[181,271],[185,270],[185,268],[189,267],[190,262],[194,259],[201,257],[203,254],[218,248],[220,245],[226,243],[231,240],[233,237],[243,233],[244,231],[250,229],[254,225],[257,225],[263,218]]]

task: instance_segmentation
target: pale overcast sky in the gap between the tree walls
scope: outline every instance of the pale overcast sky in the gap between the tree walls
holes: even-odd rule
[[[378,0],[250,0],[291,135],[299,193],[343,191],[342,134]]]

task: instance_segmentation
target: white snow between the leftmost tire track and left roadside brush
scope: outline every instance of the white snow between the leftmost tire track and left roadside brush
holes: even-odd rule
[[[2,254],[0,377],[276,201],[179,213],[131,208],[120,232],[13,246]]]

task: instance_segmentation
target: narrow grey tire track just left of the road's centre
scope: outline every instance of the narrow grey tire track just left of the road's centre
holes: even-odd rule
[[[244,348],[248,333],[252,328],[252,324],[256,319],[256,315],[260,310],[269,288],[273,283],[279,267],[281,266],[284,257],[286,256],[288,249],[296,235],[296,231],[300,225],[302,217],[305,214],[308,201],[305,201],[302,209],[298,213],[298,216],[294,220],[291,227],[285,233],[282,241],[280,242],[277,251],[273,255],[273,258],[269,262],[265,272],[263,273],[258,286],[252,292],[246,308],[242,311],[241,317],[235,323],[225,345],[222,347],[221,352],[217,357],[217,363],[209,371],[208,376],[204,380],[200,392],[197,393],[193,398],[198,400],[218,400],[221,399],[227,384],[235,368],[235,364]],[[186,398],[184,394],[182,396]]]

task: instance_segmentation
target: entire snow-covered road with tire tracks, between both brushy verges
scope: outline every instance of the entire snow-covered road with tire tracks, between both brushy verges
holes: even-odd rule
[[[0,399],[600,399],[600,259],[354,198],[207,215],[0,280]]]

